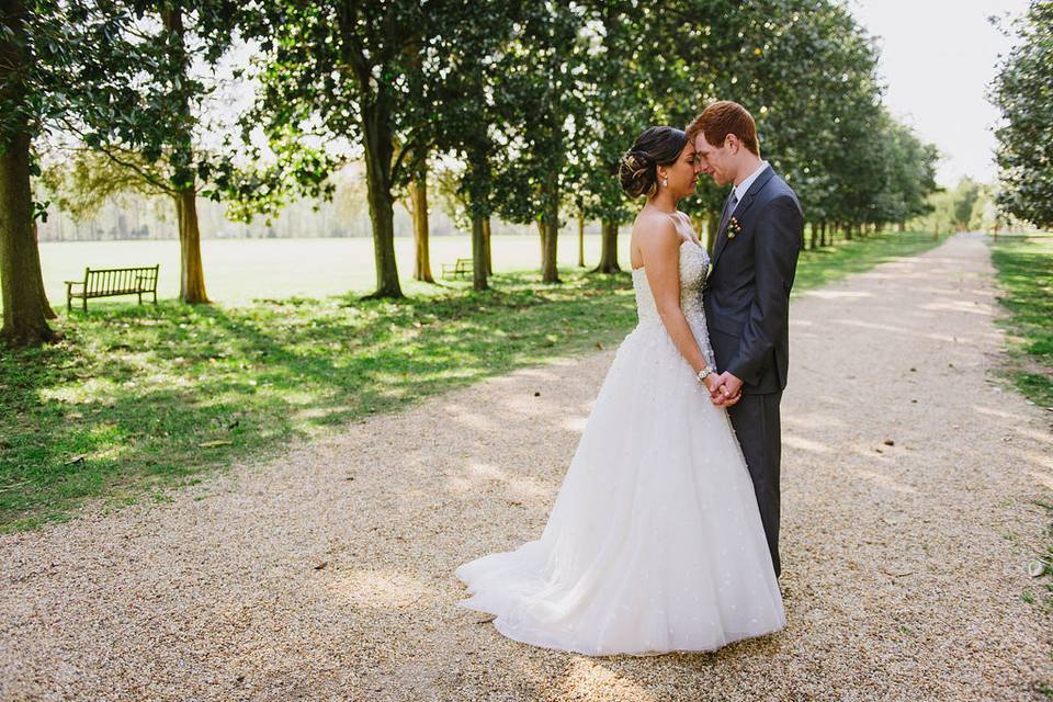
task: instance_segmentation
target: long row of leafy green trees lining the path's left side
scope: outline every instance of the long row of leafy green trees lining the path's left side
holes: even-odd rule
[[[924,214],[936,188],[933,147],[883,107],[873,42],[835,0],[0,0],[0,15],[2,333],[16,343],[53,337],[31,190],[53,144],[73,146],[92,196],[171,199],[190,303],[207,301],[197,196],[273,215],[331,194],[349,159],[364,165],[374,296],[401,296],[403,197],[415,274],[431,279],[429,180],[471,222],[476,290],[494,216],[536,224],[546,282],[562,214],[602,223],[599,270],[616,270],[636,207],[619,158],[720,98],[754,112],[813,245]],[[237,114],[216,106],[231,61],[256,87]],[[706,182],[689,213],[712,230],[723,197]]]

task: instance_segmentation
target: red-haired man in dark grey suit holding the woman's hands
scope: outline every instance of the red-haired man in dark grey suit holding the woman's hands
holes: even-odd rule
[[[793,190],[760,159],[757,125],[741,105],[714,102],[687,133],[697,168],[717,185],[733,185],[703,293],[722,371],[713,401],[728,406],[779,576],[779,403],[786,386],[786,313],[804,213]]]

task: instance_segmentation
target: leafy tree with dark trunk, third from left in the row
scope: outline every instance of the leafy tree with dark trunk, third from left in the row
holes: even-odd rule
[[[373,224],[376,290],[401,297],[395,260],[394,202],[420,173],[434,147],[438,91],[451,73],[439,33],[451,15],[471,20],[464,0],[260,3],[245,23],[260,43],[264,68],[257,109],[271,139],[312,135],[322,143],[356,144],[365,161]],[[303,173],[309,181],[325,169]]]

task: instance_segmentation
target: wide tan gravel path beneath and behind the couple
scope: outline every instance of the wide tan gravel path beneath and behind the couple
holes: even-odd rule
[[[455,607],[454,567],[540,534],[609,349],[0,536],[0,699],[1043,699],[1053,415],[990,380],[992,273],[959,236],[794,304],[781,633],[590,659]]]

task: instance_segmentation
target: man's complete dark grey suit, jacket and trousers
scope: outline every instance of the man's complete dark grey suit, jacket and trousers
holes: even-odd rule
[[[705,319],[717,370],[743,381],[743,398],[728,415],[754,482],[778,576],[779,403],[786,386],[790,288],[803,244],[804,213],[796,194],[770,166],[735,208],[726,210],[727,205],[705,285]]]

